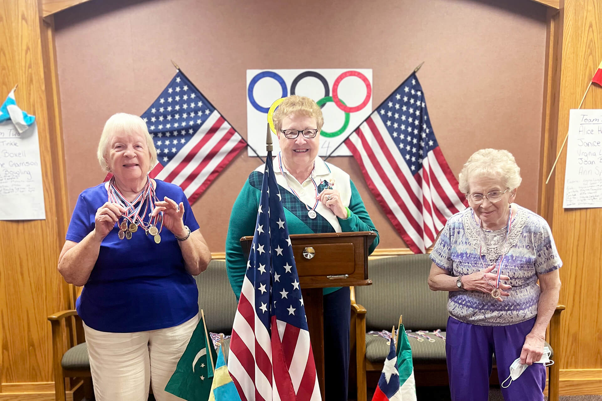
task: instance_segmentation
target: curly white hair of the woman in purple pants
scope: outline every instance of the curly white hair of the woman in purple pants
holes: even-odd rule
[[[506,188],[516,189],[523,179],[521,169],[507,150],[481,149],[474,152],[462,167],[459,177],[459,189],[468,194],[468,180],[473,177],[490,177],[500,179]]]

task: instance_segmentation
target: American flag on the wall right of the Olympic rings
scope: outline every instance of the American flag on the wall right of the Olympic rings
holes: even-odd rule
[[[412,252],[424,253],[447,219],[467,206],[435,139],[415,73],[344,143]]]

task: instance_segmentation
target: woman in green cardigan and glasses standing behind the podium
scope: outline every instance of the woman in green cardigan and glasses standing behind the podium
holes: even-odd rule
[[[323,124],[320,107],[308,97],[289,96],[274,113],[281,149],[274,170],[288,230],[291,234],[376,231],[349,174],[318,157]],[[247,265],[240,238],[255,230],[263,173],[262,165],[249,175],[230,217],[226,268],[237,298]],[[376,237],[370,253],[378,242]],[[349,320],[349,287],[324,289],[324,379],[329,401],[347,400]]]

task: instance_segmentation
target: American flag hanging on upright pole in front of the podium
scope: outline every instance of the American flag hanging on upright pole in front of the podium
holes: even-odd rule
[[[314,355],[271,153],[232,327],[228,370],[243,401],[318,401]]]

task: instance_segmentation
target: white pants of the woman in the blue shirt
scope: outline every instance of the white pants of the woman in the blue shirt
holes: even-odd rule
[[[151,382],[157,401],[181,400],[165,386],[198,322],[197,315],[178,326],[133,333],[84,324],[96,401],[147,401]]]

